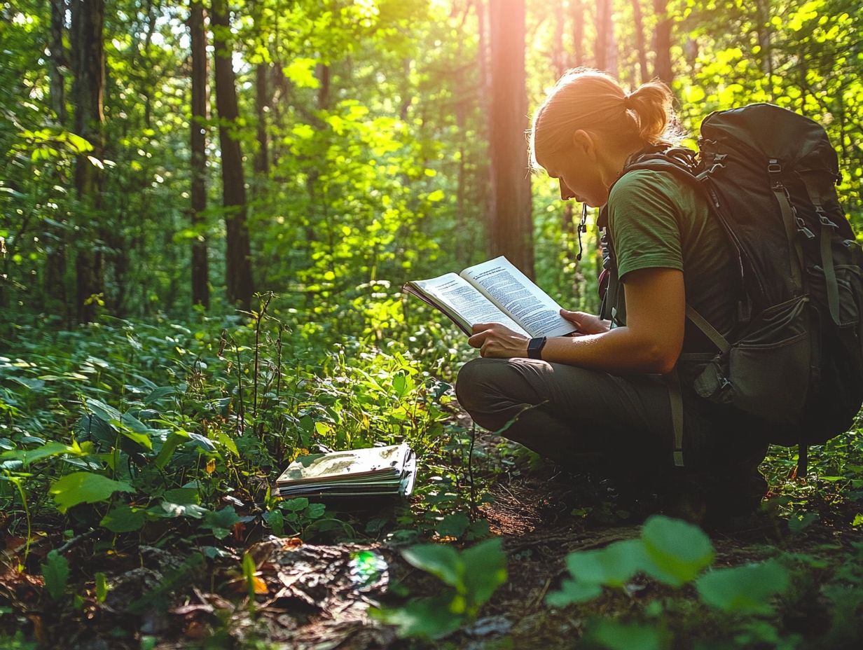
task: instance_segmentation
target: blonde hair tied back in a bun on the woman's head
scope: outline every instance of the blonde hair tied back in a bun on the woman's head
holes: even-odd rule
[[[539,168],[538,154],[544,157],[567,148],[578,129],[601,134],[613,146],[671,145],[673,99],[668,86],[658,79],[627,93],[607,73],[569,70],[533,116],[531,166]]]

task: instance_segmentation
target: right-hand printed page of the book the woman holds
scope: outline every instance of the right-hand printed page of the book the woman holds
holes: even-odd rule
[[[576,331],[576,327],[560,315],[557,302],[504,256],[465,268],[462,277],[512,316],[532,337],[562,337]]]

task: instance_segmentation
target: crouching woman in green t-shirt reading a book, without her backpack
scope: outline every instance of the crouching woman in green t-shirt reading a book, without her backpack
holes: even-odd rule
[[[686,470],[674,470],[664,375],[683,351],[715,351],[686,320],[687,303],[723,335],[734,328],[732,249],[696,187],[667,172],[622,174],[638,155],[671,145],[671,100],[658,81],[627,94],[592,70],[557,82],[533,119],[532,160],[559,181],[561,199],[606,206],[621,283],[614,323],[562,310],[577,335],[533,340],[530,352],[531,341],[503,325],[476,324],[469,343],[482,357],[463,366],[456,390],[481,426],[564,465],[591,452],[627,476],[685,476],[696,509],[721,517],[765,493],[758,423],[683,382]]]

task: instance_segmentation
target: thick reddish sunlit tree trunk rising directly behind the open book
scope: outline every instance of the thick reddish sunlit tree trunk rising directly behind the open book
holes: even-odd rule
[[[528,123],[524,0],[493,0],[489,14],[491,254],[507,256],[525,275],[533,277],[531,180],[525,142]]]

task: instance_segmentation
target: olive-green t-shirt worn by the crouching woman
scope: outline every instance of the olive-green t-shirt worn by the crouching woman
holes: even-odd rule
[[[677,268],[683,271],[687,303],[728,335],[740,298],[736,256],[696,187],[669,172],[630,172],[608,197],[608,228],[622,282],[616,306],[620,324],[626,323],[627,274],[641,268]],[[687,320],[683,350],[715,347]]]

